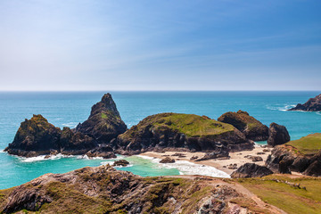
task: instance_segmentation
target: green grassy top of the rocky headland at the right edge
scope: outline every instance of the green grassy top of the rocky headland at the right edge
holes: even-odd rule
[[[286,143],[291,145],[294,152],[301,154],[313,154],[321,149],[321,133],[303,136],[299,140],[294,140]]]

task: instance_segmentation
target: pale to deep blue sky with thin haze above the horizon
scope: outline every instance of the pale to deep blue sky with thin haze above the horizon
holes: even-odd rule
[[[0,90],[321,90],[320,11],[319,0],[2,0]]]

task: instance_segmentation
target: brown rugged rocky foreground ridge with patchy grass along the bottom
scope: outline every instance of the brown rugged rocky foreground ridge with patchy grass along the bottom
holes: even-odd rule
[[[109,165],[46,174],[0,195],[1,213],[263,213],[251,196],[222,180],[138,177]]]

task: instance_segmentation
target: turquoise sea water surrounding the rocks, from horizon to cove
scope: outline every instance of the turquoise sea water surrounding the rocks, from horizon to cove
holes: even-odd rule
[[[0,93],[0,150],[12,142],[21,121],[42,114],[58,127],[74,128],[87,119],[90,108],[106,92],[74,93]],[[262,123],[282,124],[292,139],[321,132],[320,112],[284,111],[304,103],[319,92],[111,92],[122,119],[128,127],[144,117],[160,112],[207,115],[217,119],[226,111],[248,111]],[[129,170],[141,176],[177,175],[178,169],[160,168],[139,157],[127,158]],[[85,166],[99,166],[103,160],[78,157],[31,161],[0,152],[0,189],[21,185],[45,173],[63,173]]]

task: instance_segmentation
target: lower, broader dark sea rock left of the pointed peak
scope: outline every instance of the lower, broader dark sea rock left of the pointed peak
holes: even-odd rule
[[[70,128],[56,128],[38,114],[21,123],[12,144],[4,151],[24,157],[57,152],[81,154],[95,145],[93,138],[81,133],[75,134]]]

